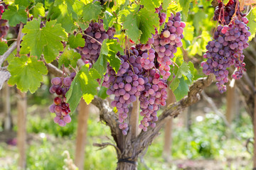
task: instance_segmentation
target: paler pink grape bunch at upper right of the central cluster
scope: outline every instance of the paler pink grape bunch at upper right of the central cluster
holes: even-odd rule
[[[158,55],[159,71],[164,80],[171,76],[169,66],[173,64],[171,59],[174,57],[174,53],[177,52],[177,47],[182,46],[181,39],[183,38],[183,28],[185,27],[186,23],[181,22],[181,13],[177,12],[176,16],[171,13],[169,21],[161,31],[161,34],[158,35],[156,33],[153,35],[153,45]]]

